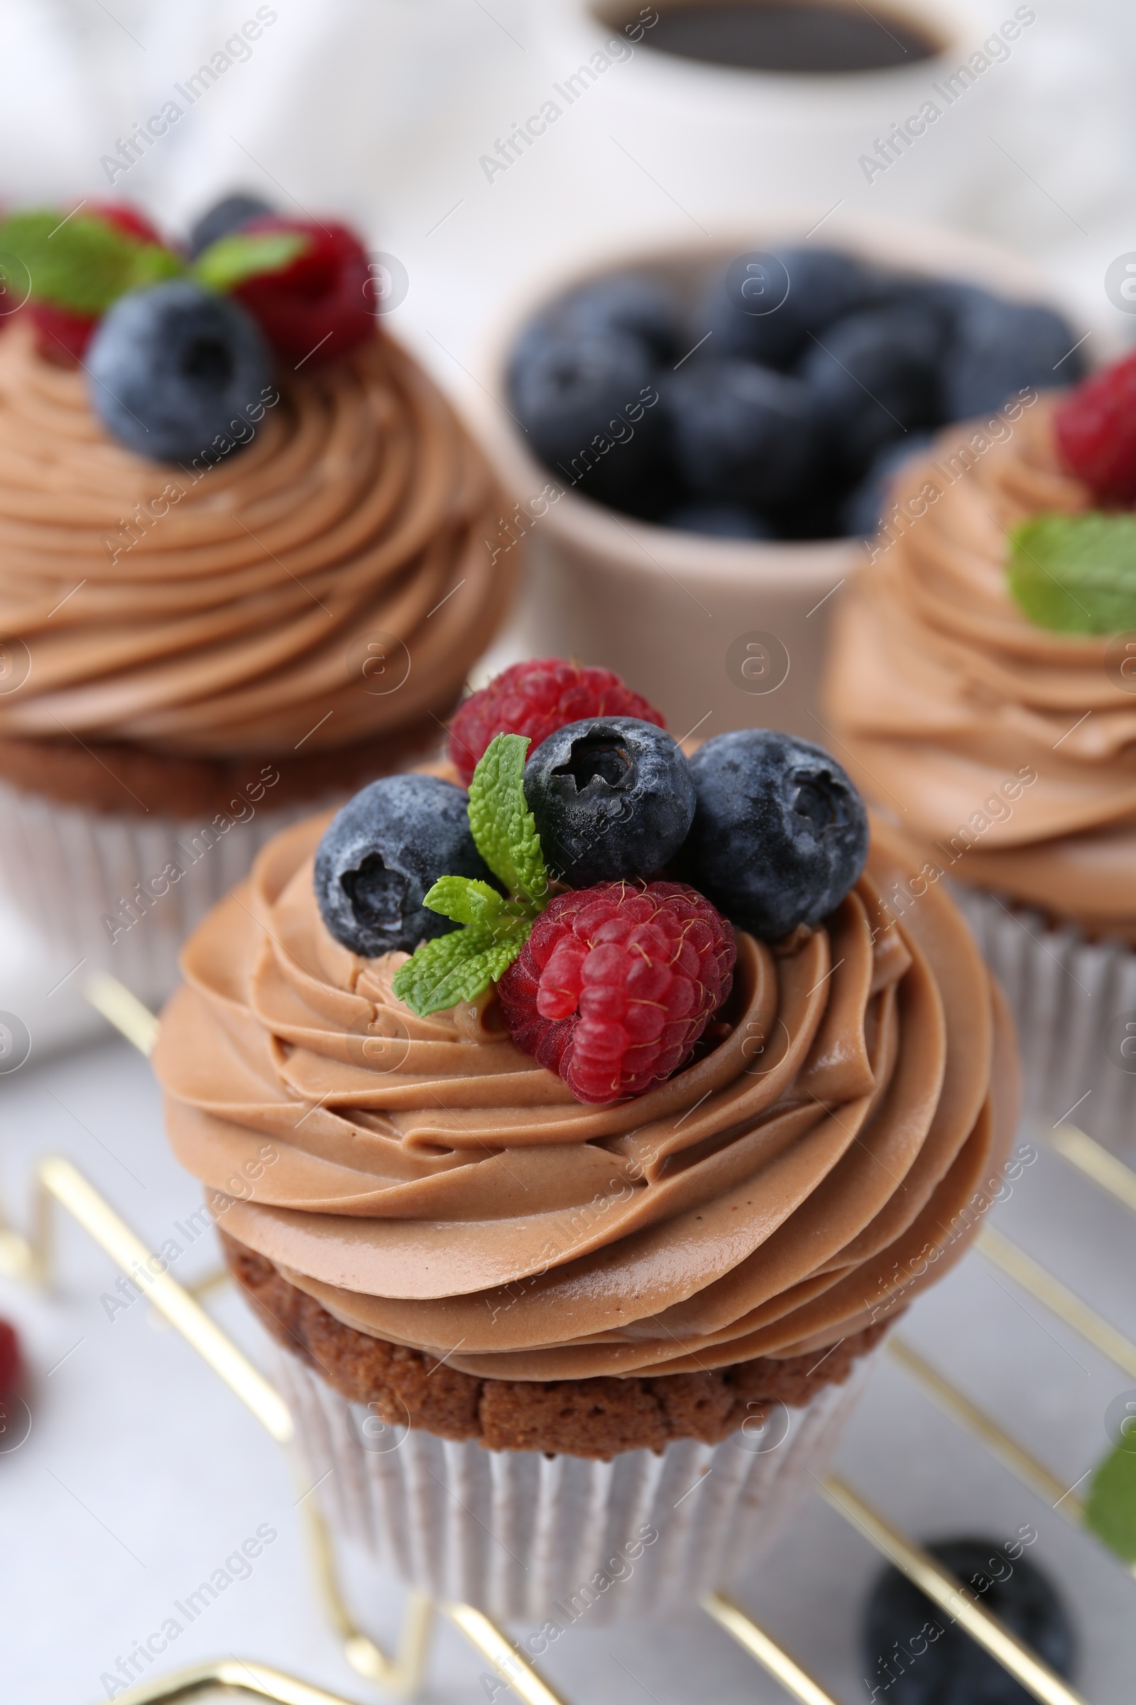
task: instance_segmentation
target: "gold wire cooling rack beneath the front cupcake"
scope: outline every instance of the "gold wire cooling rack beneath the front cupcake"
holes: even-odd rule
[[[87,997],[128,1042],[141,1054],[150,1054],[158,1033],[158,1021],[123,984],[112,977],[94,979],[87,987]],[[1051,1146],[1085,1178],[1136,1214],[1136,1173],[1133,1170],[1071,1125],[1059,1125],[1051,1137]],[[46,1156],[39,1161],[27,1236],[0,1217],[0,1270],[29,1284],[44,1287],[51,1284],[55,1207],[63,1207],[77,1219],[124,1274],[129,1277],[146,1275],[152,1306],[181,1332],[240,1402],[252,1410],[266,1432],[291,1456],[295,1429],[284,1400],[201,1304],[203,1296],[228,1279],[228,1272],[209,1274],[194,1286],[177,1284],[169,1272],[152,1275],[146,1267],[152,1251],[70,1161],[58,1156]],[[1092,1344],[1116,1367],[1136,1379],[1136,1344],[1117,1332],[1047,1269],[990,1226],[979,1233],[976,1248],[1042,1308]],[[887,1342],[887,1352],[927,1396],[978,1439],[1022,1485],[1046,1499],[1066,1521],[1083,1528],[1085,1500],[1076,1490],[1081,1482],[1076,1482],[1073,1488],[1064,1487],[1058,1475],[903,1338],[892,1335]],[[291,1466],[300,1475],[300,1465],[295,1458]],[[1081,1695],[991,1616],[969,1587],[962,1587],[928,1552],[892,1526],[843,1478],[829,1475],[819,1483],[819,1490],[828,1504],[863,1534],[881,1557],[901,1569],[1027,1693],[1041,1700],[1042,1705],[1087,1705]],[[324,1606],[347,1662],[359,1676],[387,1693],[414,1698],[426,1681],[433,1628],[436,1616],[441,1615],[465,1635],[525,1705],[565,1705],[536,1666],[518,1650],[509,1635],[470,1604],[434,1603],[421,1592],[410,1592],[397,1654],[392,1657],[380,1650],[354,1625],[347,1610],[339,1587],[330,1536],[315,1499],[305,1497],[300,1507]],[[1136,1574],[1136,1563],[1129,1567],[1129,1572]],[[734,1599],[724,1592],[709,1592],[700,1599],[700,1610],[737,1640],[799,1705],[841,1705]],[[274,1700],[278,1705],[358,1705],[354,1700],[283,1674],[267,1664],[238,1657],[221,1657],[216,1662],[189,1666],[141,1683],[119,1695],[119,1705],[158,1705],[158,1702],[204,1698],[216,1691]]]

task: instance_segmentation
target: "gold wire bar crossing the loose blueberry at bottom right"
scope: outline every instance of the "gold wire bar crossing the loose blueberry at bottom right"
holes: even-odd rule
[[[1085,1705],[1080,1693],[1075,1693],[1047,1664],[1030,1652],[1015,1633],[990,1615],[978,1603],[974,1594],[967,1594],[949,1570],[937,1563],[921,1545],[913,1545],[906,1534],[892,1528],[865,1499],[852,1490],[840,1475],[829,1475],[821,1482],[821,1492],[845,1521],[858,1528],[875,1550],[901,1569],[908,1581],[915,1582],[921,1592],[942,1611],[952,1616],[969,1637],[990,1652],[1003,1669],[1008,1669],[1015,1681],[1041,1700],[1042,1705]]]

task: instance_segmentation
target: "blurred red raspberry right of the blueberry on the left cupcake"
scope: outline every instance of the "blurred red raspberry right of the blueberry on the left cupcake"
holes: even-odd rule
[[[307,356],[325,361],[375,334],[366,249],[353,230],[266,213],[242,225],[240,235],[262,230],[293,230],[308,239],[291,266],[247,278],[233,290],[278,355],[293,365]]]

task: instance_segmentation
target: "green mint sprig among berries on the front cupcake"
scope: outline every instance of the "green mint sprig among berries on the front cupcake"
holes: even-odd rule
[[[525,735],[496,735],[473,771],[470,832],[509,897],[470,876],[439,876],[429,890],[422,905],[463,928],[424,941],[395,972],[395,996],[419,1018],[484,994],[548,904],[540,835],[521,786],[528,747]]]

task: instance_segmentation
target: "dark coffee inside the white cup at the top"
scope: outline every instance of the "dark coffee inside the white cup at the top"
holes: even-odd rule
[[[911,19],[838,0],[686,0],[659,5],[644,46],[748,72],[882,72],[940,44]]]

